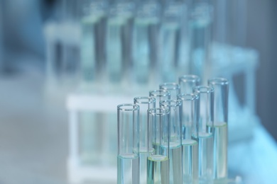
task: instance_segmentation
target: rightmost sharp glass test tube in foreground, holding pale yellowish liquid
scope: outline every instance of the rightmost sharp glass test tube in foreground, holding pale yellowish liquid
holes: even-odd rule
[[[227,147],[228,147],[228,91],[229,82],[224,78],[208,81],[214,88],[214,179],[228,178]]]

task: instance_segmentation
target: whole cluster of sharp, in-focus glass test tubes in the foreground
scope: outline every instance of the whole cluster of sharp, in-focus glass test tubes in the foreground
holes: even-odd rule
[[[117,107],[117,183],[231,183],[229,83],[186,75]]]

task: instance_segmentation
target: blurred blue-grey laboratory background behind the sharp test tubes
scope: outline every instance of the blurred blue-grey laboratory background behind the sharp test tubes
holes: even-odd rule
[[[230,81],[229,178],[277,183],[277,1],[0,0],[0,183],[116,183],[116,105]]]

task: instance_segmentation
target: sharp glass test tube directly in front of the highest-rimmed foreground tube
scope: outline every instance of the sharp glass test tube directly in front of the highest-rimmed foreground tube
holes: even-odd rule
[[[197,94],[179,94],[182,100],[183,183],[198,183],[198,105]]]

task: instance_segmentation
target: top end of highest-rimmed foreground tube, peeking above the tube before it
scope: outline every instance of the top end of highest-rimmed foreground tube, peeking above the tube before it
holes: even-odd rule
[[[179,77],[180,93],[193,93],[193,87],[200,85],[200,77],[196,75],[184,75]]]

